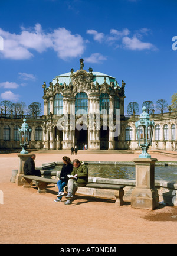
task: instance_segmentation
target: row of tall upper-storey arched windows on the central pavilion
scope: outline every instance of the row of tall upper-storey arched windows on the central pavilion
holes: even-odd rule
[[[100,95],[100,111],[106,111],[109,114],[109,95],[101,93]],[[114,112],[119,109],[119,97],[116,96],[114,100]],[[50,101],[48,101],[48,114],[50,113]],[[75,114],[88,113],[88,96],[84,92],[77,93],[75,97]],[[63,95],[57,93],[54,97],[54,115],[63,114]]]

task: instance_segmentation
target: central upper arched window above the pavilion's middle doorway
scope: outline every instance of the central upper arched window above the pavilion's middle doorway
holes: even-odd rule
[[[87,114],[88,96],[84,92],[77,93],[75,97],[75,114]]]

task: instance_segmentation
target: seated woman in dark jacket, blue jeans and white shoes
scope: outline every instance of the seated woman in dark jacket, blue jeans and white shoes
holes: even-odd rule
[[[73,165],[71,164],[71,160],[69,157],[63,157],[63,166],[61,168],[60,179],[57,182],[57,186],[59,192],[57,194],[57,199],[54,202],[61,202],[62,196],[64,195],[64,187],[67,186],[68,183],[68,174],[71,174],[73,171]]]

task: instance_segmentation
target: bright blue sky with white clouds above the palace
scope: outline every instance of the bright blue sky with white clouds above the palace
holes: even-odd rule
[[[40,102],[63,73],[84,69],[116,77],[129,102],[177,92],[177,1],[1,0],[0,101]],[[176,44],[177,48],[177,44]]]

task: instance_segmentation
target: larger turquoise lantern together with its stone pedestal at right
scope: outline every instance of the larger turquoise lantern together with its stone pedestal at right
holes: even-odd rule
[[[158,190],[155,187],[155,163],[156,158],[151,158],[148,148],[152,144],[154,121],[149,120],[146,107],[143,106],[143,113],[139,121],[135,123],[139,146],[142,147],[142,154],[133,159],[136,171],[136,186],[132,191],[131,207],[140,209],[155,209],[159,205]],[[140,132],[139,132],[140,128]]]

